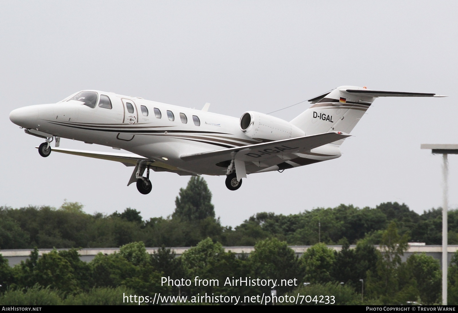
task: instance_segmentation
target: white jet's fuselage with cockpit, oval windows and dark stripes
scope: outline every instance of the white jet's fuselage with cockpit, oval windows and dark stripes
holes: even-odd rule
[[[10,119],[26,129],[122,148],[170,168],[206,175],[225,175],[227,165],[184,162],[180,156],[263,142],[248,137],[236,117],[98,90],[75,93],[56,104],[16,109]],[[341,154],[338,146],[327,144],[297,155],[311,164]],[[278,169],[247,165],[246,170],[249,174]]]

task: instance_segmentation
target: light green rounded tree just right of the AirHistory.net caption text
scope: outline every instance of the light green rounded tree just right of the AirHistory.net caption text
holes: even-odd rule
[[[312,284],[333,281],[331,271],[335,261],[334,251],[324,243],[317,243],[300,258],[305,271],[305,281]]]

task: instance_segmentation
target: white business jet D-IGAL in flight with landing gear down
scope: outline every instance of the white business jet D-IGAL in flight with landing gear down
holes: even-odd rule
[[[288,122],[254,111],[243,113],[240,119],[211,113],[208,103],[202,110],[193,110],[84,90],[55,104],[13,110],[10,120],[27,134],[46,139],[38,147],[43,157],[55,151],[134,166],[127,186],[136,182],[142,194],[152,190],[150,170],[226,175],[226,186],[237,190],[247,174],[340,157],[340,145],[377,97],[443,96],[342,86],[309,99],[311,107]],[[61,137],[132,154],[58,148]]]

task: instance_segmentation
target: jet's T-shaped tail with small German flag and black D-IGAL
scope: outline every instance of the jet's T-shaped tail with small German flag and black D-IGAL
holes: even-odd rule
[[[291,124],[305,135],[323,132],[350,133],[377,97],[441,97],[434,93],[376,91],[354,86],[341,86],[308,101],[311,107],[295,117]],[[343,140],[335,142],[342,144]]]

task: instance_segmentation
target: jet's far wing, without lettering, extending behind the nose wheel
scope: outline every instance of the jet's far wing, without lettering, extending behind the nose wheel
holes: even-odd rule
[[[38,148],[38,147],[35,147]],[[85,156],[94,159],[103,159],[109,161],[116,161],[124,164],[125,166],[136,166],[139,160],[148,160],[145,157],[142,157],[138,154],[127,154],[127,153],[113,153],[113,152],[97,152],[97,151],[86,151],[86,150],[74,150],[74,149],[64,149],[64,148],[51,148],[52,151],[65,153],[65,154],[73,154],[79,156]],[[156,172],[173,172],[177,173],[178,175],[192,175],[196,176],[196,174],[191,172],[186,172],[184,170],[180,170],[177,167],[158,162],[156,160],[149,160],[150,168]]]

